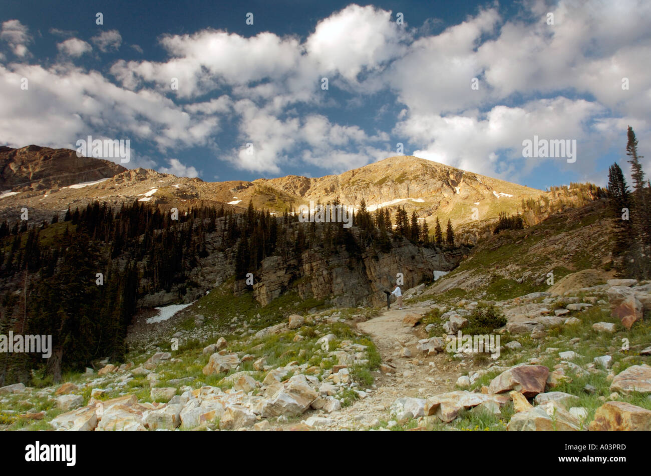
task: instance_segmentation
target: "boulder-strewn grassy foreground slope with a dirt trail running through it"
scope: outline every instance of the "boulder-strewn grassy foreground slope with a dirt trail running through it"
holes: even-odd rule
[[[450,350],[458,338],[450,325],[463,332],[477,302],[422,300],[422,289],[409,290],[415,300],[404,311],[290,314],[259,330],[259,319],[236,315],[234,325],[242,326],[236,332],[243,332],[228,338],[223,328],[202,321],[175,332],[172,342],[181,347],[171,352],[148,347],[135,362],[104,361],[97,373],[87,369],[60,386],[0,388],[0,425],[650,430],[648,323],[638,319],[628,330],[618,314],[629,298],[639,303],[633,314],[648,310],[649,291],[650,283],[611,280],[580,296],[533,293],[493,302],[509,316],[497,330],[502,340],[493,358],[472,345]],[[533,313],[533,328],[510,325]],[[447,331],[437,336],[441,323]]]

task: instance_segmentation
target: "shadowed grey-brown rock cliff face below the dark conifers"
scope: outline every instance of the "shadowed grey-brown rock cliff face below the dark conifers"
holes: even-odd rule
[[[148,293],[139,300],[139,306],[164,306],[180,299],[189,303],[226,282],[234,272],[235,248],[222,250],[220,236],[221,229],[210,235],[206,243],[208,256],[189,272],[186,283],[174,285],[169,292]],[[369,252],[360,258],[353,258],[343,247],[328,256],[319,250],[306,250],[300,259],[270,256],[262,260],[253,286],[238,280],[234,294],[252,290],[262,306],[287,291],[296,291],[301,298],[326,300],[337,307],[381,306],[386,302],[383,289],[393,287],[398,273],[404,279],[400,287],[406,290],[432,278],[435,270],[454,269],[467,253],[466,248],[422,248],[404,239],[396,241],[389,253]],[[145,290],[147,285],[143,280],[141,289]]]

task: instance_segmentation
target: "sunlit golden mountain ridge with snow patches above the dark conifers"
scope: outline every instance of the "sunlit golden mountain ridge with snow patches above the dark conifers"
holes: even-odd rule
[[[16,219],[21,207],[28,207],[39,220],[49,219],[68,205],[84,206],[92,200],[115,206],[140,200],[166,209],[201,203],[240,209],[252,201],[258,209],[280,214],[310,201],[326,204],[339,199],[354,209],[362,200],[370,210],[387,207],[395,213],[396,207],[404,206],[409,214],[415,211],[426,220],[432,231],[435,217],[444,227],[450,218],[455,228],[475,230],[501,212],[522,211],[523,200],[544,198],[553,203],[564,197],[568,203],[576,202],[570,191],[540,191],[411,156],[389,157],[337,176],[252,182],[204,182],[143,168],[126,170],[101,159],[79,159],[72,150],[38,146],[5,147],[0,165],[0,183],[10,191],[0,195],[3,219]],[[537,219],[527,218],[531,223]]]

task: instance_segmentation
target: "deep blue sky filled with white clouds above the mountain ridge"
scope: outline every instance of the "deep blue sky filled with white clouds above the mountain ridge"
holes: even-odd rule
[[[130,139],[123,165],[221,181],[339,173],[400,142],[530,187],[605,185],[628,125],[651,157],[650,52],[632,0],[4,0],[0,144]],[[577,160],[523,157],[534,135]]]

